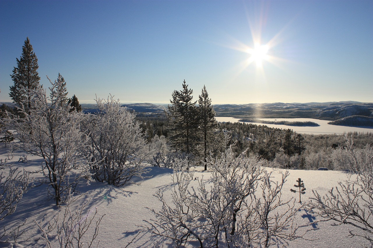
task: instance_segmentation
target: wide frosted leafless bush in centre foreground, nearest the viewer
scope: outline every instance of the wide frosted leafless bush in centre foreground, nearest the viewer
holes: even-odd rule
[[[294,200],[281,199],[288,174],[273,181],[262,163],[245,152],[235,158],[228,149],[210,160],[211,179],[175,170],[172,202],[157,191],[162,208],[150,209],[156,219],[145,221],[146,228],[176,247],[269,247],[297,238]],[[198,180],[196,187],[191,186],[193,179]]]

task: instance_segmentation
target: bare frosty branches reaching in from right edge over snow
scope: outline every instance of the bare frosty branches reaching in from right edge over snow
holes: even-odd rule
[[[347,224],[360,229],[350,230],[349,236],[361,237],[373,246],[373,148],[367,144],[355,150],[352,144],[352,140],[347,142],[347,148],[339,152],[352,162],[348,167],[357,173],[324,196],[312,191],[309,208],[321,217],[319,221],[332,220],[332,225]]]

